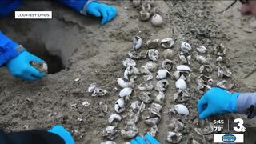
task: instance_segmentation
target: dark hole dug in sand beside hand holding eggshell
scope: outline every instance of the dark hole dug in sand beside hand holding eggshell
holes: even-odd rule
[[[26,43],[25,48],[27,51],[36,55],[38,58],[46,61],[48,65],[48,74],[55,74],[65,69],[62,58],[58,56],[60,52],[55,51],[54,54],[51,54],[49,50],[46,50],[46,46],[44,46],[44,44],[33,42],[33,40]]]

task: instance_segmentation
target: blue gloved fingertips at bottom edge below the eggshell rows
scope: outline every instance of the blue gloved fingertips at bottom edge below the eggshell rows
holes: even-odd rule
[[[130,144],[160,144],[160,142],[158,142],[158,140],[152,137],[150,134],[146,134],[145,138],[146,140],[144,140],[140,136],[137,136],[136,138],[130,141]]]

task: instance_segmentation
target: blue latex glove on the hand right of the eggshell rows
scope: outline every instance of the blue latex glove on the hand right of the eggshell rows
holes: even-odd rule
[[[227,90],[214,87],[198,100],[198,114],[200,119],[209,118],[214,114],[237,112],[238,93],[231,94]]]

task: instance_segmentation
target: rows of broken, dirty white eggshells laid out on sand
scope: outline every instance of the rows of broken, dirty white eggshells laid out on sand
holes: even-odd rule
[[[167,80],[168,77],[171,77],[176,81],[174,105],[170,107],[170,114],[184,116],[190,114],[188,108],[184,105],[190,100],[187,82],[190,82],[194,75],[190,69],[190,44],[187,42],[180,42],[180,54],[178,54],[178,58],[181,64],[176,66],[176,71],[174,71],[173,74],[170,74],[170,71],[174,70],[175,64],[170,59],[174,58],[175,55],[174,50],[171,49],[174,46],[174,39],[165,38],[162,39],[162,41],[159,39],[148,40],[146,46],[149,48],[146,53],[139,52],[139,49],[142,47],[142,38],[135,36],[132,49],[128,52],[130,58],[124,58],[122,60],[122,65],[124,66],[125,71],[123,73],[123,78],[117,78],[118,86],[120,86],[122,90],[120,90],[119,98],[114,104],[115,113],[111,114],[108,118],[109,126],[106,126],[106,129],[103,130],[103,136],[110,140],[117,138],[118,132],[120,132],[122,138],[134,138],[139,133],[136,124],[140,118],[143,119],[147,126],[150,126],[148,133],[155,136],[158,132],[158,122],[160,122],[162,118],[162,104],[165,102],[165,91],[169,86]],[[164,60],[162,61],[162,66],[158,70],[157,62],[159,53],[156,48],[159,46],[166,50],[163,52]],[[211,58],[209,55],[206,55],[206,47],[197,46],[196,50],[195,60],[201,64],[199,69],[200,75],[196,78],[196,82],[198,83],[198,93],[203,94],[214,85],[214,80],[208,76],[212,73],[214,68],[210,66]],[[218,78],[230,77],[231,72],[226,66],[226,58],[224,57],[226,49],[222,45],[218,46],[214,49],[214,54],[218,56],[216,61],[218,63]],[[140,69],[138,69],[135,60],[145,58],[149,58],[150,61],[146,62]],[[156,72],[156,74],[153,74],[154,72]],[[154,76],[157,82],[154,82]],[[137,86],[135,80],[139,78],[142,78],[144,82]],[[137,88],[134,88],[135,85]],[[233,84],[228,84],[228,82],[224,80],[217,82],[217,86],[230,89]],[[154,94],[154,98],[152,98],[152,92],[154,90],[157,91],[157,94]],[[134,101],[134,99],[137,98],[139,101]],[[126,110],[127,107],[129,107],[126,106],[128,103],[130,104],[130,109]],[[126,114],[122,114],[125,111]],[[125,119],[126,126],[119,130],[118,122],[122,121],[123,118]],[[174,117],[170,122],[169,129],[170,130],[167,130],[166,141],[171,143],[180,142],[182,140],[182,130],[184,130],[184,123],[182,123],[182,120]],[[213,132],[212,123],[205,122],[201,128],[194,128],[194,131],[200,135],[210,134]],[[102,143],[111,144],[114,142],[106,141]],[[198,142],[193,139],[192,143],[195,144]]]

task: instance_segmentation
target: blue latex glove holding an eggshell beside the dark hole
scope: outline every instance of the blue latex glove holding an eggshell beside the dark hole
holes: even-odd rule
[[[7,69],[10,74],[13,74],[17,78],[24,80],[34,81],[45,76],[41,74],[34,66],[30,65],[30,62],[42,63],[42,59],[30,54],[27,51],[22,52],[17,57],[11,59],[6,63]]]

